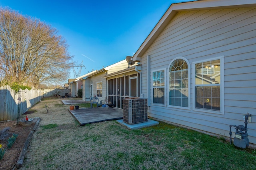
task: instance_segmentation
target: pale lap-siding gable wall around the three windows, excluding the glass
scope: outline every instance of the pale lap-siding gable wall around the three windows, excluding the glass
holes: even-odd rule
[[[149,58],[147,56],[150,56]],[[194,109],[194,62],[223,56],[224,72],[221,113]],[[168,69],[176,57],[190,64],[190,108],[152,104],[152,75],[166,70],[165,100],[168,101]],[[147,68],[150,60],[150,68]],[[149,116],[169,123],[229,137],[229,125],[244,125],[243,115],[252,114],[248,123],[249,142],[256,144],[256,9],[234,8],[178,12],[141,56],[142,93],[151,100]],[[150,74],[150,80],[147,79]],[[150,82],[150,84],[148,84]],[[232,129],[234,132],[235,130]],[[234,137],[234,135],[232,136]]]

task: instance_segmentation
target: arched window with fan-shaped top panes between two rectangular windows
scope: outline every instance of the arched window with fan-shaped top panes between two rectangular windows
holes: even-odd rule
[[[169,67],[169,106],[190,107],[188,75],[188,61],[174,59]]]

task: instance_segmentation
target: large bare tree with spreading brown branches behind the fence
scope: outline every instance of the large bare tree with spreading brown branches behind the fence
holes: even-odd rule
[[[10,82],[36,87],[66,81],[72,56],[58,31],[38,19],[0,8],[0,70]]]

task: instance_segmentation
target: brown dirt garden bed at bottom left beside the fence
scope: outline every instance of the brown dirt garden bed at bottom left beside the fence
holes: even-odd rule
[[[32,131],[37,119],[34,119],[32,121],[32,124],[29,126],[22,126],[17,125],[17,121],[1,121],[0,122],[0,130],[4,129],[5,127],[10,127],[10,129],[7,131],[9,133],[9,136],[6,137],[3,140],[0,140],[0,144],[2,144],[2,148],[6,148],[7,146],[7,140],[9,137],[12,137],[12,134],[18,134],[18,137],[12,147],[8,150],[6,150],[4,157],[2,160],[0,160],[1,166],[0,170],[10,170],[12,169],[20,155],[20,151],[22,150],[24,143],[28,137],[28,134],[30,131]]]

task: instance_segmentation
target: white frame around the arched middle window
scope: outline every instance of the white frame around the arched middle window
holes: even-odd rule
[[[177,59],[182,59],[182,60],[184,60],[184,61],[186,61],[186,63],[188,64],[188,107],[182,107],[182,106],[172,106],[172,105],[169,105],[170,104],[170,93],[169,93],[169,83],[170,83],[170,77],[169,77],[169,69],[170,69],[170,66],[171,66],[171,64],[172,64],[172,62],[174,62],[175,60],[177,60]],[[168,74],[167,74],[167,78],[168,78],[168,87],[167,87],[167,106],[168,107],[172,107],[172,108],[180,108],[180,109],[188,109],[188,110],[191,110],[191,106],[190,106],[190,103],[191,103],[191,95],[190,95],[190,80],[191,80],[191,77],[190,77],[190,63],[188,62],[188,60],[186,59],[186,58],[184,58],[184,57],[176,57],[176,58],[174,58],[171,62],[170,62],[170,64],[169,64],[169,66],[168,66],[168,68],[167,68],[167,72],[168,72]]]

